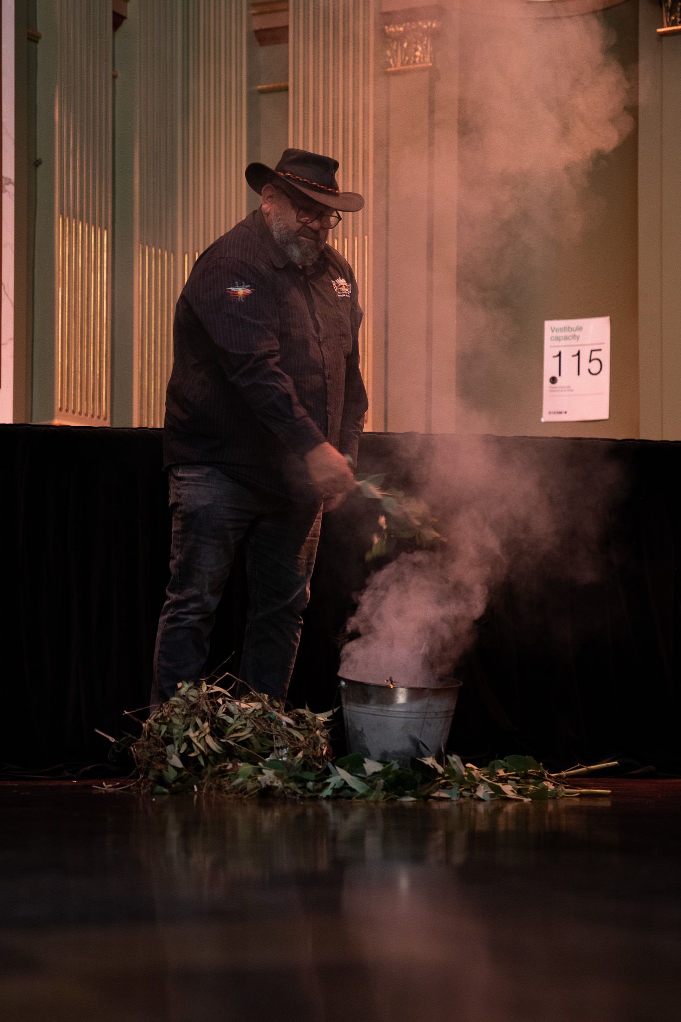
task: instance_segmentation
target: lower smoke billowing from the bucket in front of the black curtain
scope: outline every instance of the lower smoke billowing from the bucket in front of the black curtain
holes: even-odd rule
[[[596,580],[602,524],[624,480],[600,446],[557,443],[467,436],[452,448],[449,437],[423,438],[415,465],[428,477],[416,481],[447,542],[370,576],[347,624],[358,638],[341,651],[343,677],[427,685],[451,673],[506,578],[519,616],[537,582]]]

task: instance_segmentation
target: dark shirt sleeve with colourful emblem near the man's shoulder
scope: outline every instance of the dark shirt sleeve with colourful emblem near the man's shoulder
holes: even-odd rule
[[[187,295],[213,341],[220,364],[262,425],[302,457],[326,437],[280,367],[279,317],[266,278],[236,260],[215,260]]]

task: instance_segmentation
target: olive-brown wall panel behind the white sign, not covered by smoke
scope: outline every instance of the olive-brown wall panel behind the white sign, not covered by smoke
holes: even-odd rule
[[[612,6],[600,16],[616,36],[613,52],[625,67],[634,68],[638,0]],[[466,25],[461,20],[464,68],[468,59],[475,59],[471,53],[475,43]],[[587,200],[593,204],[593,214],[581,235],[549,239],[544,232],[529,250],[520,241],[515,248],[509,232],[505,257],[513,269],[499,310],[499,321],[507,317],[499,327],[504,337],[496,349],[482,351],[467,349],[461,337],[459,429],[638,436],[637,157],[634,130],[613,153],[596,159],[589,177],[590,194],[581,198],[583,208]],[[612,321],[610,419],[542,423],[544,320],[595,316],[610,316]]]

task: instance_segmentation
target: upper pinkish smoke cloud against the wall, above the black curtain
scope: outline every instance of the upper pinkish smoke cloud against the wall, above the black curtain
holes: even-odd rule
[[[463,18],[459,429],[497,425],[490,394],[524,399],[518,309],[556,253],[602,218],[590,176],[634,124],[632,76],[612,52],[615,41],[598,13],[500,17],[497,8]]]

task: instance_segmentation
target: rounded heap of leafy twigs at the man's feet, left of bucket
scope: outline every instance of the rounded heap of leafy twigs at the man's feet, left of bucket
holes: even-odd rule
[[[295,788],[317,777],[330,753],[329,715],[285,712],[261,693],[242,699],[216,684],[186,682],[127,744],[138,781],[154,792],[254,794],[277,788],[275,765],[295,776]]]

